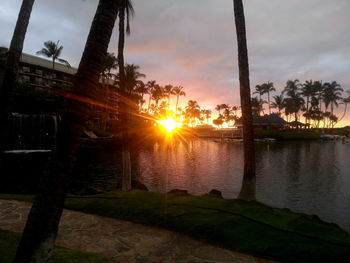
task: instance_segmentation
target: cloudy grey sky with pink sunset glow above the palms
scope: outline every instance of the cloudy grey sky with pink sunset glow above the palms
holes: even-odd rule
[[[8,46],[21,0],[0,0],[0,46]],[[60,40],[78,66],[97,0],[36,0],[24,45],[34,54]],[[127,63],[147,80],[182,85],[202,108],[238,104],[232,0],[133,0]],[[333,81],[350,89],[349,0],[246,0],[251,86],[288,79]],[[117,34],[110,52],[117,50]],[[338,115],[341,115],[342,105]],[[350,113],[341,125],[350,125]]]

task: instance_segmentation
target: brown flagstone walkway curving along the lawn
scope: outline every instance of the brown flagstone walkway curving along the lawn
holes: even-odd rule
[[[0,228],[21,233],[30,206],[0,200]],[[122,263],[271,262],[171,231],[70,210],[63,212],[56,244],[100,253]]]

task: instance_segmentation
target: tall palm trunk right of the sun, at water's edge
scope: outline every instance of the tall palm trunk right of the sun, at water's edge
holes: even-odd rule
[[[242,0],[233,0],[238,44],[238,68],[242,104],[244,172],[239,198],[255,200],[255,149],[252,106],[250,101],[249,62]]]

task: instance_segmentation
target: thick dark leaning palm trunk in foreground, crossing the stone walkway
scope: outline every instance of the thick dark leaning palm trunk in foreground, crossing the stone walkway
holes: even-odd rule
[[[39,185],[22,238],[15,263],[48,262],[58,231],[63,204],[71,185],[72,170],[91,107],[98,92],[99,73],[107,52],[119,1],[100,0],[78,72],[73,82],[70,100],[62,116],[48,172]]]

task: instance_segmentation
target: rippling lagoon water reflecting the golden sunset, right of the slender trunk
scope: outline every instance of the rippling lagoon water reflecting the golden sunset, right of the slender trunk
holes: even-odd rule
[[[256,145],[257,199],[316,214],[350,231],[350,144],[276,142]],[[242,144],[209,140],[156,143],[138,153],[141,181],[151,190],[212,189],[237,197],[243,174]]]

